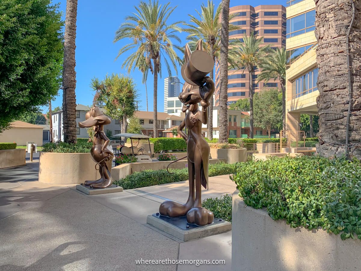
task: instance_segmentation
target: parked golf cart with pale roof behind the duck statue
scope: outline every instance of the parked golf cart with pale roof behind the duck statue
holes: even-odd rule
[[[131,147],[128,146],[121,146],[119,153],[122,155],[134,155],[138,162],[152,162],[152,149],[151,149],[151,142],[149,141],[148,136],[144,134],[131,134],[131,133],[123,133],[123,134],[116,134],[113,137],[126,137],[130,138]],[[138,143],[134,146],[133,140],[138,140]],[[149,144],[149,151],[145,150],[144,147],[138,147],[141,139],[148,139]]]

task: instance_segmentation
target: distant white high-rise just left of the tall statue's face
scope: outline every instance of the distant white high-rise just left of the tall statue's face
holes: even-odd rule
[[[177,113],[182,112],[182,103],[178,99],[181,93],[181,83],[177,76],[164,79],[164,112]]]

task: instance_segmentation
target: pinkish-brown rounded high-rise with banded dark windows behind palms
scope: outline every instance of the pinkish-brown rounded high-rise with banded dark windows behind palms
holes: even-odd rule
[[[257,33],[258,37],[263,36],[263,45],[271,44],[272,48],[286,46],[286,8],[282,5],[241,5],[230,8],[230,14],[237,14],[230,20],[230,23],[240,26],[239,30],[230,31],[230,39],[243,41],[244,35]],[[215,105],[219,105],[220,90],[220,66],[216,61],[216,95]],[[260,69],[256,69],[252,74],[252,82],[249,82],[247,70],[230,70],[228,72],[228,104],[235,103],[238,99],[249,97],[249,83],[257,92],[261,89],[280,88],[279,80],[263,81],[257,83],[257,76]]]

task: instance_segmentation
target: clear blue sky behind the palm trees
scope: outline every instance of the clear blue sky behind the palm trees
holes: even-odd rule
[[[57,1],[55,1],[57,2]],[[181,0],[169,1],[159,0],[160,4],[170,2],[170,6],[177,8],[174,10],[169,22],[175,21],[189,21],[188,14],[196,14],[195,9],[200,10],[200,6],[206,0]],[[218,5],[221,1],[215,0],[214,3]],[[284,2],[284,3],[283,3]],[[285,4],[286,1],[275,1],[272,4]],[[231,0],[231,7],[235,5],[257,5],[270,4],[265,0],[253,1],[236,1]],[[120,56],[115,60],[119,49],[129,43],[129,40],[122,40],[113,43],[114,34],[118,27],[124,22],[124,18],[134,12],[134,6],[138,5],[139,1],[125,1],[125,0],[87,0],[78,1],[78,16],[77,16],[77,38],[75,60],[77,66],[77,87],[76,96],[77,103],[91,105],[94,92],[89,87],[90,81],[93,77],[103,78],[106,73],[122,73],[127,74],[126,70],[121,68],[121,65],[126,56]],[[65,19],[66,0],[60,1],[60,10],[64,13]],[[187,33],[179,33],[182,39],[182,45],[186,43]],[[178,77],[180,75],[180,68],[178,69]],[[172,70],[172,76],[176,71]],[[158,77],[158,112],[164,110],[164,78],[168,76],[166,70],[162,72],[162,78]],[[142,74],[135,70],[131,73],[134,78],[138,93],[139,93],[139,110],[146,110],[145,102],[145,86],[142,84]],[[149,73],[148,81],[148,107],[149,111],[153,111],[153,77]],[[59,90],[59,96],[52,103],[52,107],[61,106],[62,104],[62,90]],[[43,107],[44,112],[47,108]]]

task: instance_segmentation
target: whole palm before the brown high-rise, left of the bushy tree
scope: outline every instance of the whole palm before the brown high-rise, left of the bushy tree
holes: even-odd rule
[[[239,45],[239,60],[237,63],[238,69],[247,69],[249,76],[249,124],[250,131],[249,137],[253,138],[253,86],[252,86],[252,74],[255,72],[255,67],[260,66],[263,59],[268,55],[271,50],[270,45],[261,46],[263,43],[263,37],[257,38],[258,35],[254,35],[253,31],[249,36],[243,36],[243,43]]]

